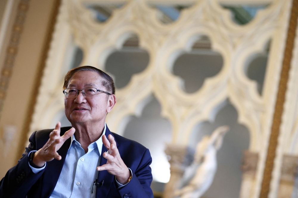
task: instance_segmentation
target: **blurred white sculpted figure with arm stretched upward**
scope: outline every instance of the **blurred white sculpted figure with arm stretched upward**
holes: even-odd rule
[[[211,136],[204,136],[197,144],[191,165],[195,176],[187,186],[177,190],[174,197],[199,198],[208,190],[217,169],[216,152],[221,148],[224,135],[229,129],[228,126],[218,127]]]

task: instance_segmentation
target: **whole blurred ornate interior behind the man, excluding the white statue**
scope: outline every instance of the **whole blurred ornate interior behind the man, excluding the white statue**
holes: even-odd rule
[[[1,178],[32,132],[71,125],[64,75],[91,65],[115,81],[110,130],[150,150],[155,197],[187,185],[196,145],[222,125],[202,197],[298,197],[296,4],[1,0]]]

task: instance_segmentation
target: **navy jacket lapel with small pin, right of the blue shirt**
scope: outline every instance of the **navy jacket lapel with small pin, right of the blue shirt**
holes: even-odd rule
[[[114,136],[111,131],[107,128],[105,129],[105,136],[108,137],[108,135]],[[116,139],[115,139],[116,141]],[[116,141],[117,147],[118,143]],[[104,165],[107,163],[107,159],[103,157],[103,153],[106,152],[108,149],[103,145],[102,150],[101,150],[101,155],[100,155],[100,166]],[[114,181],[114,175],[111,175],[108,173],[107,170],[99,171],[98,172],[98,177],[97,177],[97,182],[101,182],[103,180],[103,186],[97,186],[96,188],[96,197],[100,198],[106,198],[108,196],[108,192],[111,188],[111,184]]]

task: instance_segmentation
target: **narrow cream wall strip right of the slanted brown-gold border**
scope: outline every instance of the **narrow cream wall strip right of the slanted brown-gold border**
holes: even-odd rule
[[[283,156],[298,156],[298,27],[294,49],[292,52],[291,68],[285,95],[282,122],[280,125],[280,135],[274,160],[274,169],[270,183],[270,198],[277,197],[280,179],[282,175]]]

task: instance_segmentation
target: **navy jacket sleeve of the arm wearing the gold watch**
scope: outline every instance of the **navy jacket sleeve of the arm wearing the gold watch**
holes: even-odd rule
[[[118,191],[121,197],[153,198],[153,192],[150,188],[152,174],[149,165],[151,162],[152,158],[147,149],[138,168],[133,172],[131,181],[126,186],[119,188]]]

